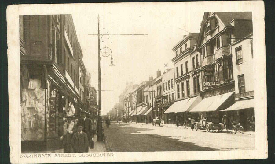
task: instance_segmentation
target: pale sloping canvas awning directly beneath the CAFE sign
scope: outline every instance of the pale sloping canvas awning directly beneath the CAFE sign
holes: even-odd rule
[[[217,110],[234,92],[207,97],[196,105],[190,112],[211,112]]]

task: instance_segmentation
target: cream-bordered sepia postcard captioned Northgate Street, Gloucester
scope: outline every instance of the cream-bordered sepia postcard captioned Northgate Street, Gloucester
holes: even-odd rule
[[[188,153],[199,151],[209,159],[267,144],[259,139],[267,137],[266,97],[254,98],[254,90],[255,97],[266,90],[266,82],[256,84],[265,52],[253,45],[255,28],[264,29],[255,26],[255,10],[235,11],[241,2],[213,3],[232,9],[203,9],[203,2],[16,6],[17,52],[8,55],[17,55],[17,66],[8,66],[16,77],[9,76],[15,163],[163,160],[130,157],[135,152],[191,160]]]

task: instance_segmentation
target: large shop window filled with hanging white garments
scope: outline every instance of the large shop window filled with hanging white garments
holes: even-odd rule
[[[24,83],[21,85],[21,140],[44,140],[45,89],[40,88],[40,79],[24,79]]]

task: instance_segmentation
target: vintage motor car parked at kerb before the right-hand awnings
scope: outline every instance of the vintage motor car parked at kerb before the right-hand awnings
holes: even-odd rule
[[[217,111],[218,112],[218,111]],[[205,130],[206,132],[209,132],[210,130],[218,130],[219,132],[222,132],[222,129],[224,128],[224,125],[222,123],[219,123],[218,120],[218,114],[213,113],[211,115],[204,115],[200,114],[200,118],[197,122],[194,122],[194,130],[197,131]]]

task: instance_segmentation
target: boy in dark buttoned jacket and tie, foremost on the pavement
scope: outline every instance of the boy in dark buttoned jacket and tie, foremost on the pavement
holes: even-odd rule
[[[73,135],[71,139],[71,145],[75,153],[87,153],[89,152],[89,141],[87,134],[82,131],[83,124],[77,124],[77,132]]]

